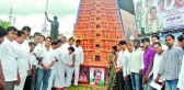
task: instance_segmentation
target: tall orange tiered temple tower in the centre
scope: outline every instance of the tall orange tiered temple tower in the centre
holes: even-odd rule
[[[81,40],[84,66],[108,67],[112,46],[124,37],[117,0],[81,0],[73,34]]]

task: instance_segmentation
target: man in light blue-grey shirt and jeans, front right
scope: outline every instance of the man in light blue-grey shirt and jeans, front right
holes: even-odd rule
[[[154,79],[158,82],[160,77],[164,76],[165,90],[177,90],[176,86],[183,60],[183,48],[175,46],[174,40],[175,37],[172,34],[165,36],[165,43],[169,48],[163,53],[158,76]]]

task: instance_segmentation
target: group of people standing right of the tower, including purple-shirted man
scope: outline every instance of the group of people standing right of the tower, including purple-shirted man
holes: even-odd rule
[[[175,43],[177,38],[179,44]],[[152,45],[151,45],[152,42]],[[142,44],[142,46],[140,46]],[[120,41],[110,55],[108,90],[184,90],[184,34]]]

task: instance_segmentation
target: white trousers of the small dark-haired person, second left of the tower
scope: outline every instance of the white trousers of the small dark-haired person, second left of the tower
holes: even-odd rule
[[[67,78],[66,78],[66,87],[71,86],[71,80],[72,80],[72,74],[73,74],[74,68],[67,68]]]

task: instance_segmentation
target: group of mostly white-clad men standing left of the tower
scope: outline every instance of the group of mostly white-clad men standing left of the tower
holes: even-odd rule
[[[66,90],[73,74],[78,86],[81,41],[67,41],[61,34],[55,41],[38,32],[30,34],[30,26],[21,31],[0,26],[0,90]]]

